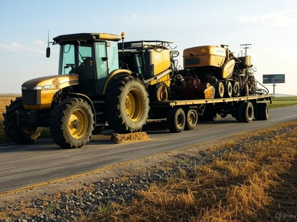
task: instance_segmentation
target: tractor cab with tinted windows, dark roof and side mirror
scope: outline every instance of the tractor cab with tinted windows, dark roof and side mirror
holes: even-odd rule
[[[76,91],[81,94],[102,94],[108,74],[119,69],[117,41],[123,38],[124,33],[121,36],[78,33],[53,38],[53,45],[60,45],[58,74],[78,74],[79,85]]]

